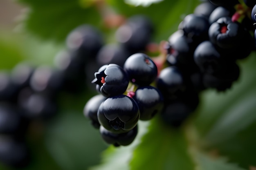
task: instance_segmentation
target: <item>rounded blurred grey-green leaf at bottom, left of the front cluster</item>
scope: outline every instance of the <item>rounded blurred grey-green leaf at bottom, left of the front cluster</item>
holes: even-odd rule
[[[73,109],[60,112],[48,124],[44,139],[48,152],[63,170],[84,170],[96,165],[107,146],[82,111]]]

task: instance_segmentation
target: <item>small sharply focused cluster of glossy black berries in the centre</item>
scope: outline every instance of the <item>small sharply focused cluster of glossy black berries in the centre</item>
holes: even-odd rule
[[[150,86],[157,77],[157,66],[148,55],[135,53],[128,57],[124,67],[103,65],[94,76],[92,83],[101,94],[86,103],[85,116],[100,129],[108,144],[131,144],[139,119],[150,120],[162,110],[162,94]]]

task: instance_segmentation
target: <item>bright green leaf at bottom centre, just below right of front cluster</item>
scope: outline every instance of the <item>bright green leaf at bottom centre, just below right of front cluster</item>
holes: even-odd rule
[[[155,117],[148,133],[133,152],[131,170],[194,170],[188,144],[181,130],[172,129]]]

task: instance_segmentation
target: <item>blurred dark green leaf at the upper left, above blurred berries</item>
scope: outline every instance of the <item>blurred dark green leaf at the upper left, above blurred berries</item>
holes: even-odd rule
[[[62,42],[81,24],[99,25],[94,7],[83,8],[78,0],[19,0],[29,6],[24,27],[43,40]]]

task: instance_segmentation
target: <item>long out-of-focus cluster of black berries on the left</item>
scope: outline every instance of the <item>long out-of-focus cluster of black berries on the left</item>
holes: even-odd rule
[[[61,91],[85,90],[88,60],[95,59],[103,39],[94,26],[82,25],[67,36],[66,44],[54,67],[24,62],[0,73],[0,162],[27,166],[31,161],[27,137],[35,124],[44,126],[55,117]]]

